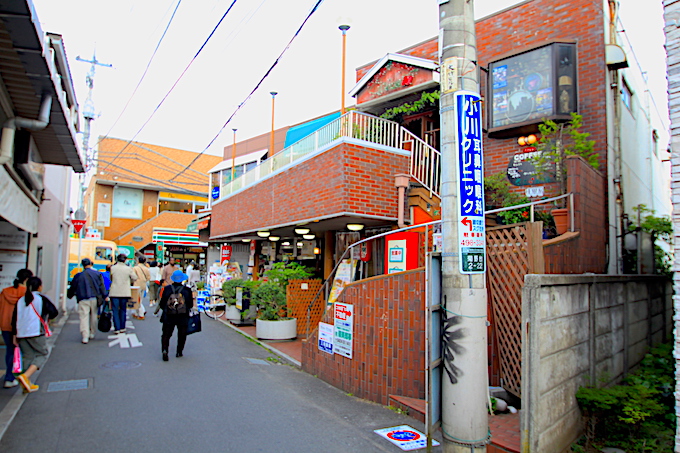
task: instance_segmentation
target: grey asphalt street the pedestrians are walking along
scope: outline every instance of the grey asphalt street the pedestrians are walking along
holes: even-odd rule
[[[184,357],[175,358],[173,338],[169,362],[161,360],[158,320],[132,324],[137,347],[110,346],[102,333],[83,345],[71,314],[37,378],[40,390],[25,397],[3,390],[15,393],[0,419],[25,401],[0,452],[399,452],[373,430],[404,424],[423,430],[205,316]],[[125,344],[137,345],[132,340]]]

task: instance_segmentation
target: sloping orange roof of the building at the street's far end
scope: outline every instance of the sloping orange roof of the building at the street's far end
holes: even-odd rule
[[[109,137],[100,138],[97,158],[99,184],[201,196],[208,194],[208,171],[222,161],[218,156]]]

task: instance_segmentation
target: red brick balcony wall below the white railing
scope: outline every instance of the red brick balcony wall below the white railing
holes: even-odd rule
[[[407,156],[343,143],[213,205],[211,236],[343,212],[397,217],[394,175]]]

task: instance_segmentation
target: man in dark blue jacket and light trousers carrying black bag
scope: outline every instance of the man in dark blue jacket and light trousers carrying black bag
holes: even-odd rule
[[[108,302],[109,294],[106,290],[104,277],[101,272],[92,268],[92,261],[89,258],[83,258],[80,263],[83,265],[83,271],[78,272],[73,277],[66,296],[69,299],[76,296],[78,318],[80,319],[80,335],[82,336],[80,341],[83,344],[87,344],[94,338],[97,330],[99,300],[102,303],[104,301]]]

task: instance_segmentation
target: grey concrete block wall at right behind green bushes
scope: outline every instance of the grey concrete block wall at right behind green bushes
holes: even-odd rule
[[[561,452],[582,430],[579,386],[619,382],[670,338],[671,283],[605,275],[527,275],[524,283],[522,452]]]

